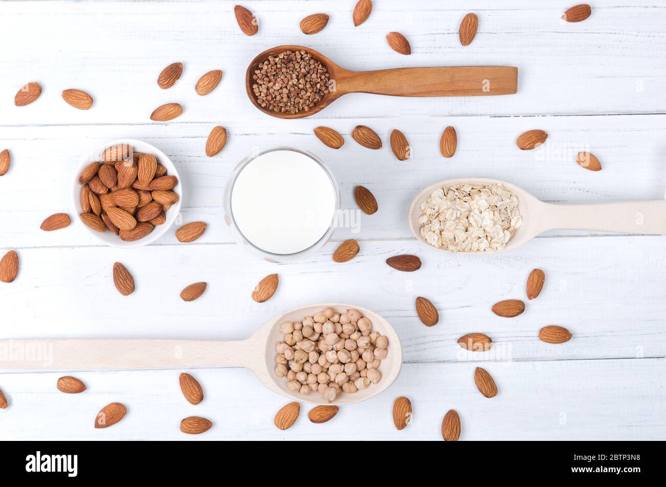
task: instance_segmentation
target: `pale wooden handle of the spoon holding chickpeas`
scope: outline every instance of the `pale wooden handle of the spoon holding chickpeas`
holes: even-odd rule
[[[62,339],[0,341],[0,369],[178,369],[246,367],[249,340]]]

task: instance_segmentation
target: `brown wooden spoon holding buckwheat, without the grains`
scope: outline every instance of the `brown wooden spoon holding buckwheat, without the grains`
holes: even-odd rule
[[[278,113],[262,107],[252,90],[252,75],[260,63],[284,51],[308,51],[320,61],[335,81],[331,92],[307,112]],[[391,96],[488,96],[514,94],[518,86],[518,69],[510,66],[460,66],[436,68],[400,68],[380,71],[350,71],[326,56],[303,46],[278,46],[252,59],[245,75],[245,84],[252,104],[262,112],[278,118],[304,118],[314,115],[347,93],[374,93]]]

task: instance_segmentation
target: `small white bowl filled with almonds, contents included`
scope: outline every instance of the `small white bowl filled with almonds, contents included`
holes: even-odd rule
[[[180,212],[176,166],[141,140],[107,142],[85,159],[74,182],[79,220],[112,247],[134,248],[163,236]]]

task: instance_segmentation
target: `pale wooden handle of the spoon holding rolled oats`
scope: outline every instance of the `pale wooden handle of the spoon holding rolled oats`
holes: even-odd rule
[[[589,205],[546,205],[543,230],[666,234],[666,200]]]

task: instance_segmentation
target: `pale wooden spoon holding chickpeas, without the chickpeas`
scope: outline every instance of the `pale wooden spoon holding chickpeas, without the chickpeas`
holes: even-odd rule
[[[334,303],[302,306],[264,323],[251,337],[239,341],[153,339],[26,339],[0,342],[0,370],[48,369],[187,369],[191,367],[246,367],[271,391],[294,401],[329,404],[318,392],[302,395],[287,389],[286,377],[275,375],[275,346],[284,339],[284,321],[302,321],[326,307],[338,313],[358,311],[372,321],[373,331],[388,337],[388,355],[378,371],[382,379],[354,394],[340,393],[330,404],[359,403],[385,391],[402,369],[402,346],[393,327],[380,315],[358,306]]]

